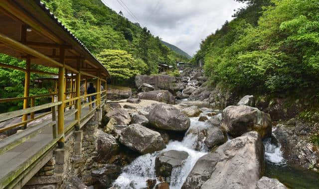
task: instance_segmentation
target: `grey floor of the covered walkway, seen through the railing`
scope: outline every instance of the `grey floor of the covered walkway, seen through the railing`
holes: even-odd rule
[[[67,115],[68,112],[71,111],[72,110],[66,111],[65,114]],[[82,108],[81,119],[86,117],[89,111],[89,107]],[[75,114],[67,115],[64,119],[64,128],[67,129],[67,126],[74,120]],[[17,170],[24,169],[25,165],[29,161],[32,161],[35,154],[43,150],[43,148],[53,141],[51,123],[51,118],[43,121],[37,125],[37,127],[41,127],[41,131],[38,134],[0,155],[0,188],[2,188],[1,184],[3,180],[6,180],[6,178],[17,172]],[[14,137],[14,135],[9,137]]]

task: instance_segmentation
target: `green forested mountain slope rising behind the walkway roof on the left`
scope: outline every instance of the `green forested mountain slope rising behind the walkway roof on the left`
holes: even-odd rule
[[[150,30],[130,22],[101,0],[43,1],[96,56],[105,49],[127,51],[148,65],[142,74],[157,73],[159,62],[173,65],[186,59],[162,45]]]

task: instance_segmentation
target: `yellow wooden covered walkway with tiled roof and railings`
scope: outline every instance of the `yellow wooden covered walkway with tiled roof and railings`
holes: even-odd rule
[[[23,97],[1,99],[0,94],[0,103],[23,100],[23,109],[0,114],[0,122],[22,116],[21,122],[0,128],[0,133],[19,128],[0,140],[0,189],[21,188],[34,175],[30,171],[39,159],[56,146],[63,148],[64,136],[79,130],[104,104],[109,73],[40,0],[0,1],[0,53],[25,60],[24,68],[0,63],[4,69],[25,73]],[[34,64],[56,72],[33,69]],[[29,96],[31,73],[58,76],[53,93]],[[94,83],[96,93],[86,93],[88,82]],[[35,99],[43,97],[51,102],[36,106]],[[47,109],[51,111],[35,116]]]

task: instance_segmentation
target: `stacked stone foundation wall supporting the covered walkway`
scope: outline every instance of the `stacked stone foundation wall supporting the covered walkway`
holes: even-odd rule
[[[94,160],[97,152],[97,129],[102,111],[95,115],[78,131],[65,136],[65,146],[53,149],[53,157],[36,173],[23,189],[64,189],[74,186],[80,178],[86,185],[94,184],[92,170],[98,168]],[[75,186],[76,187],[76,186]]]

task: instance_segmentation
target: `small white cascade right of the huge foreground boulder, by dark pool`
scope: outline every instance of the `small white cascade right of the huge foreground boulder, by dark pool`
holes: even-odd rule
[[[276,128],[273,128],[274,132]],[[283,165],[286,164],[286,161],[283,157],[283,152],[281,151],[281,144],[278,143],[278,146],[275,144],[271,143],[271,138],[267,138],[264,141],[264,146],[265,146],[265,158],[269,162],[272,162],[277,165]]]

